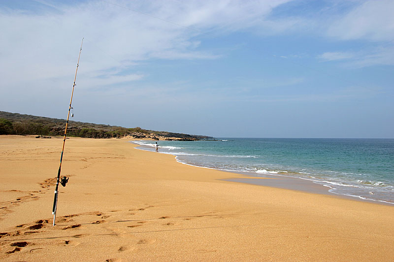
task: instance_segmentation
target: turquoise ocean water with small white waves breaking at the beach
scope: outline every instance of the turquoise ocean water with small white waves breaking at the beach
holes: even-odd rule
[[[154,150],[153,142],[133,143]],[[334,194],[394,204],[394,139],[221,138],[158,145],[184,164],[299,177]]]

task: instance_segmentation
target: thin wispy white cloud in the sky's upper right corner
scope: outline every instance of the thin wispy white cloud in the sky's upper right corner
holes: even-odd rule
[[[339,61],[345,67],[361,68],[375,65],[394,65],[394,1],[366,0],[345,14],[331,16],[324,31],[326,36],[340,42],[362,41],[374,45],[358,44],[351,51],[326,52],[318,59]],[[356,48],[358,50],[356,50]]]

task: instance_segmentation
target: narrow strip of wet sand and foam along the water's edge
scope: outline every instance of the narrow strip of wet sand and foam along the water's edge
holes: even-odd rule
[[[146,139],[146,140],[153,141],[150,139]],[[129,142],[131,144],[135,145],[135,147],[134,147],[135,149],[148,151],[148,152],[154,152],[153,148],[151,148],[150,146],[139,145],[137,143],[133,143],[134,141],[138,141],[138,140],[130,140]],[[138,148],[138,147],[140,147],[140,148]],[[143,149],[143,148],[146,148],[148,150]],[[210,167],[196,166],[196,165],[192,165],[192,164],[180,161],[178,159],[177,155],[171,154],[170,152],[163,153],[163,152],[159,151],[159,153],[172,155],[172,156],[174,156],[176,162],[178,162],[180,164],[187,165],[187,166],[210,169],[210,170],[217,170],[217,171],[226,172],[226,173],[230,173],[230,174],[242,175],[242,176],[230,177],[227,179],[223,179],[225,181],[245,183],[245,184],[251,184],[251,185],[259,185],[259,186],[267,186],[267,187],[274,187],[274,188],[281,188],[281,189],[288,189],[288,190],[296,190],[296,191],[302,191],[302,192],[313,193],[313,194],[324,194],[324,195],[328,195],[328,196],[340,197],[343,199],[361,201],[361,202],[366,202],[366,203],[371,203],[371,204],[383,204],[383,205],[388,205],[388,206],[394,206],[394,203],[390,203],[390,202],[383,201],[383,200],[365,199],[365,198],[362,198],[359,196],[352,196],[352,195],[337,194],[337,193],[329,192],[329,190],[333,190],[333,188],[323,185],[323,184],[320,184],[319,181],[315,181],[313,179],[307,179],[307,178],[298,177],[298,176],[273,175],[273,174],[269,174],[269,173],[253,175],[253,172],[230,171],[230,170],[215,169],[215,168],[210,168]],[[258,173],[256,173],[256,174],[258,174]],[[259,178],[269,178],[269,179],[259,179]]]

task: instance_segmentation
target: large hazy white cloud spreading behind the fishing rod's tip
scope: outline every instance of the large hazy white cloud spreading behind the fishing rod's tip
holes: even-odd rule
[[[0,76],[3,86],[13,87],[42,79],[66,81],[73,74],[82,37],[86,38],[81,55],[84,71],[87,75],[104,74],[106,85],[133,79],[113,75],[113,68],[130,70],[147,59],[220,58],[221,54],[199,50],[200,42],[193,37],[214,28],[247,28],[287,1],[113,0],[116,5],[90,1],[69,6],[37,0],[38,5],[56,9],[0,9]]]

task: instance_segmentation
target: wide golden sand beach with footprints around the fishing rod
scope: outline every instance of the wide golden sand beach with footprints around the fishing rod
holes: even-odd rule
[[[0,136],[1,261],[394,261],[394,207],[225,181],[126,139]],[[239,175],[238,178],[242,177]]]

